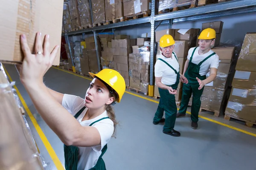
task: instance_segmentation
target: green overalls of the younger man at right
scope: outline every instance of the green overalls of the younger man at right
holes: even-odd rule
[[[196,48],[198,48],[198,47],[196,47]],[[198,113],[199,113],[200,106],[201,106],[201,96],[204,91],[204,87],[201,90],[198,90],[200,85],[199,85],[196,77],[198,77],[198,79],[201,79],[201,80],[206,79],[206,75],[201,76],[199,74],[200,66],[202,65],[203,62],[205,62],[207,59],[209,59],[210,57],[212,57],[215,54],[215,53],[210,54],[204,60],[199,62],[198,65],[196,65],[196,64],[192,63],[192,58],[193,58],[196,48],[194,49],[194,51],[190,57],[189,67],[185,73],[185,77],[188,79],[189,83],[183,84],[182,99],[181,99],[180,110],[179,110],[180,114],[186,114],[186,110],[187,110],[187,107],[189,104],[189,99],[191,97],[191,94],[193,94],[192,107],[191,107],[192,122],[198,122]]]

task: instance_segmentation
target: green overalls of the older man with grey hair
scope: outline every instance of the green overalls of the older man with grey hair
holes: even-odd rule
[[[175,54],[174,56],[177,59]],[[180,82],[180,71],[177,72],[171,65],[169,65],[163,59],[159,59],[159,60],[166,63],[170,68],[172,68],[173,71],[175,71],[175,74],[177,74],[177,79],[175,84],[167,85],[169,87],[171,86],[172,89],[176,90]],[[176,115],[177,115],[177,105],[175,101],[175,95],[170,94],[169,91],[166,89],[158,88],[158,90],[160,94],[160,101],[154,116],[154,122],[160,122],[160,120],[163,117],[163,111],[165,111],[166,116],[165,116],[165,125],[163,126],[163,130],[166,132],[170,132],[174,128]]]

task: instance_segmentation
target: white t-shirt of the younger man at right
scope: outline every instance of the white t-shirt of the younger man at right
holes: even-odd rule
[[[196,47],[189,49],[188,60],[190,59],[195,48]],[[196,65],[198,65],[199,62],[203,61],[206,57],[214,53],[214,51],[210,50],[205,54],[199,55],[198,51],[199,51],[199,47],[195,50],[195,53],[192,58],[192,63]],[[218,68],[218,65],[219,65],[219,57],[217,54],[215,54],[202,63],[202,65],[200,66],[199,74],[201,76],[204,76],[209,72],[209,68]]]

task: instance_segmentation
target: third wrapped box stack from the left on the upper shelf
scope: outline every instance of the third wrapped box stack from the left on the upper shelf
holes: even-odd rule
[[[81,27],[87,28],[92,27],[92,19],[90,13],[89,0],[78,0],[78,11],[81,21]]]

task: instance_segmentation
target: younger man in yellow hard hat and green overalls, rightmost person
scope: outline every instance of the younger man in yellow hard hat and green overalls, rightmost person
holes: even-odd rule
[[[189,99],[192,95],[191,126],[193,129],[198,127],[198,113],[204,85],[212,82],[217,76],[219,57],[210,49],[210,46],[214,45],[215,38],[214,29],[204,29],[198,37],[199,47],[189,49],[188,58],[184,66],[183,74],[189,83],[183,85],[181,105],[177,117],[186,115]],[[206,78],[209,69],[210,75]]]

